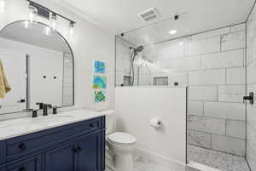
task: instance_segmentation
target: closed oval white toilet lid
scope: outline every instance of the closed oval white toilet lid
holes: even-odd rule
[[[131,134],[121,132],[109,134],[107,138],[111,143],[118,145],[131,145],[137,141]]]

